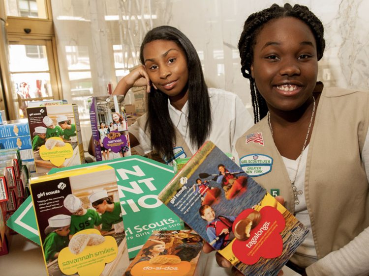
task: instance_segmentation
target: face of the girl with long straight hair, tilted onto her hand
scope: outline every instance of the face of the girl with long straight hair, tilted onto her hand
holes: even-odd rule
[[[169,97],[187,94],[188,68],[184,51],[175,42],[154,40],[144,47],[145,67],[157,89]]]

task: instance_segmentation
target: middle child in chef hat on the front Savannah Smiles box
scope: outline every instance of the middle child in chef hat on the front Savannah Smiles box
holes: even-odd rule
[[[95,210],[84,209],[81,199],[77,196],[68,194],[64,199],[64,207],[72,213],[70,216],[70,239],[77,232],[84,229],[93,229],[93,226],[97,226],[97,230],[101,231],[101,217],[99,214]]]

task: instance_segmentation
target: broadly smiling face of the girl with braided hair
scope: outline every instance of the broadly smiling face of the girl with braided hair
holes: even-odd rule
[[[318,75],[310,28],[293,17],[266,23],[253,47],[251,75],[269,110],[300,108],[311,98]]]

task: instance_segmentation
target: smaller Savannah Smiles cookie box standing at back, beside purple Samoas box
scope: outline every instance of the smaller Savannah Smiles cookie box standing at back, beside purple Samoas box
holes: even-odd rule
[[[85,163],[77,105],[27,108],[37,173]]]

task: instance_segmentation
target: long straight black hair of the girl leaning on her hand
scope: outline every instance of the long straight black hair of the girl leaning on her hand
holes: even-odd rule
[[[189,138],[200,148],[210,134],[212,114],[208,87],[205,83],[200,58],[189,39],[177,28],[161,26],[150,30],[140,49],[140,60],[145,65],[143,51],[145,45],[154,40],[173,41],[180,47],[187,60],[188,68],[188,122]],[[176,131],[168,110],[168,96],[153,86],[147,95],[147,117],[145,129],[151,134],[152,149],[160,155],[173,157],[173,143]]]

